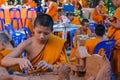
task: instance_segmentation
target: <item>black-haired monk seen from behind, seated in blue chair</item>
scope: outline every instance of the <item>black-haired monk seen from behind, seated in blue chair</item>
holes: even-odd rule
[[[105,40],[105,38],[104,38],[104,35],[105,35],[104,25],[101,25],[101,24],[97,25],[95,27],[95,34],[96,34],[95,38],[87,40],[85,43],[85,47],[87,48],[87,51],[90,55],[94,54],[93,51],[94,51],[94,48],[96,47],[96,45],[99,42]]]

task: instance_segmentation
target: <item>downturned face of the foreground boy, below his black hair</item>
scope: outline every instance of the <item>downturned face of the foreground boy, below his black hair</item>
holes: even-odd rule
[[[34,28],[35,37],[40,43],[45,43],[48,39],[52,30],[48,27],[37,25]]]

